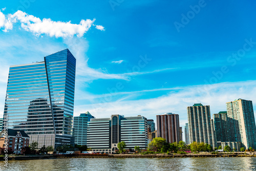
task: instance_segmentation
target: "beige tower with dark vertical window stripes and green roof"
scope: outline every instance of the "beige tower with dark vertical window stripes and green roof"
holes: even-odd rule
[[[210,106],[201,103],[187,107],[189,142],[204,142],[216,147],[214,123],[210,118]]]

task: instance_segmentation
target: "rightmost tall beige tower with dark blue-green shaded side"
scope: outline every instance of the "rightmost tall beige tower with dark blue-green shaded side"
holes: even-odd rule
[[[231,142],[242,142],[245,149],[256,149],[256,126],[252,101],[237,99],[226,103]]]

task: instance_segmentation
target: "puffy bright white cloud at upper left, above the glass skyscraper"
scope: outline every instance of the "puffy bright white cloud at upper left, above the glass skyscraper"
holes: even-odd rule
[[[0,22],[2,21],[3,26],[3,16],[5,15],[0,12],[2,18],[0,18]],[[1,17],[1,16],[0,16]],[[20,22],[21,27],[28,32],[32,32],[35,35],[39,36],[41,34],[47,34],[50,37],[72,37],[77,35],[78,37],[82,37],[84,33],[86,33],[93,23],[95,19],[82,19],[79,24],[72,24],[69,22],[55,22],[51,20],[51,18],[43,18],[42,20],[33,15],[29,15],[23,11],[17,11],[13,15],[8,14],[8,18],[4,18],[5,32],[8,30],[12,30],[13,23]],[[0,23],[1,24],[1,23]],[[0,25],[1,26],[1,25]],[[104,30],[103,26],[96,26],[99,30]]]

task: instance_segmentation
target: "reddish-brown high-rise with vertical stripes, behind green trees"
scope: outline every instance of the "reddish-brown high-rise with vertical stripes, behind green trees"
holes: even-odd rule
[[[178,114],[157,115],[157,137],[165,138],[168,143],[181,140]]]

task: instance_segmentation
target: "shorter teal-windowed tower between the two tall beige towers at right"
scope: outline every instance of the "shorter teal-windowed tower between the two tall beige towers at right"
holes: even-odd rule
[[[217,141],[228,142],[229,128],[227,112],[219,112],[218,114],[214,114],[213,116]]]

